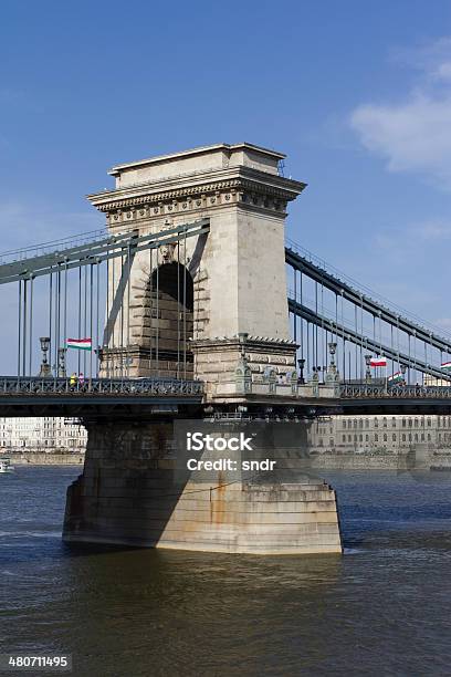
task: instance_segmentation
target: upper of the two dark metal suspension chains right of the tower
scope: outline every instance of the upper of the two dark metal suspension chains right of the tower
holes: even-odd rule
[[[350,301],[357,308],[361,308],[371,315],[380,317],[384,322],[391,324],[392,326],[399,327],[402,332],[416,336],[420,341],[428,343],[429,345],[437,347],[444,353],[451,354],[451,342],[447,341],[442,336],[429,332],[427,329],[417,324],[416,322],[402,317],[389,308],[381,305],[377,301],[374,301],[368,295],[360,293],[354,289],[347,282],[336,278],[324,268],[312,263],[305,257],[293,251],[289,247],[285,248],[285,261],[289,265],[305,273],[308,278],[323,284],[328,290],[333,291],[337,295]]]

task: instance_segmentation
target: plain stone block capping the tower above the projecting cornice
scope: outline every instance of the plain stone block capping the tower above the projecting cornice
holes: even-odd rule
[[[202,171],[213,168],[248,166],[269,174],[277,174],[279,162],[286,155],[254,144],[213,144],[211,146],[200,146],[190,150],[171,153],[169,155],[158,155],[133,163],[116,165],[109,169],[111,176],[120,177],[130,171],[140,170],[151,171],[153,168],[159,174],[164,171],[181,174],[183,171]]]

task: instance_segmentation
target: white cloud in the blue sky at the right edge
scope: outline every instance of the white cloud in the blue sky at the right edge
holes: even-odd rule
[[[418,53],[422,70],[400,103],[365,103],[350,115],[360,143],[389,171],[415,171],[451,190],[451,40]]]

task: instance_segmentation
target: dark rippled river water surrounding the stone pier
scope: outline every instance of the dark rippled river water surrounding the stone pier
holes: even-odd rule
[[[451,473],[327,471],[344,556],[259,558],[64,545],[78,472],[0,476],[0,653],[83,677],[451,674]]]

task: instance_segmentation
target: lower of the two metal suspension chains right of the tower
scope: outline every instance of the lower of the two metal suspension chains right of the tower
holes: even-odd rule
[[[337,324],[324,315],[316,314],[312,309],[307,308],[306,305],[302,305],[293,299],[289,299],[289,310],[291,313],[306,320],[311,324],[316,324],[317,326],[327,330],[332,334],[337,334],[345,341],[349,341],[358,346],[361,345],[363,337],[355,331],[349,327],[344,327],[342,324]],[[416,368],[424,374],[430,374],[431,376],[436,376],[442,381],[451,381],[451,376],[444,374],[442,369],[433,367],[430,364],[426,364],[421,360],[409,357],[409,355],[406,355],[405,353],[398,353],[398,351],[395,351],[392,347],[375,342],[369,337],[364,338],[364,347],[373,351],[376,354],[382,351],[386,357],[389,357],[399,364],[403,364],[410,368]]]

